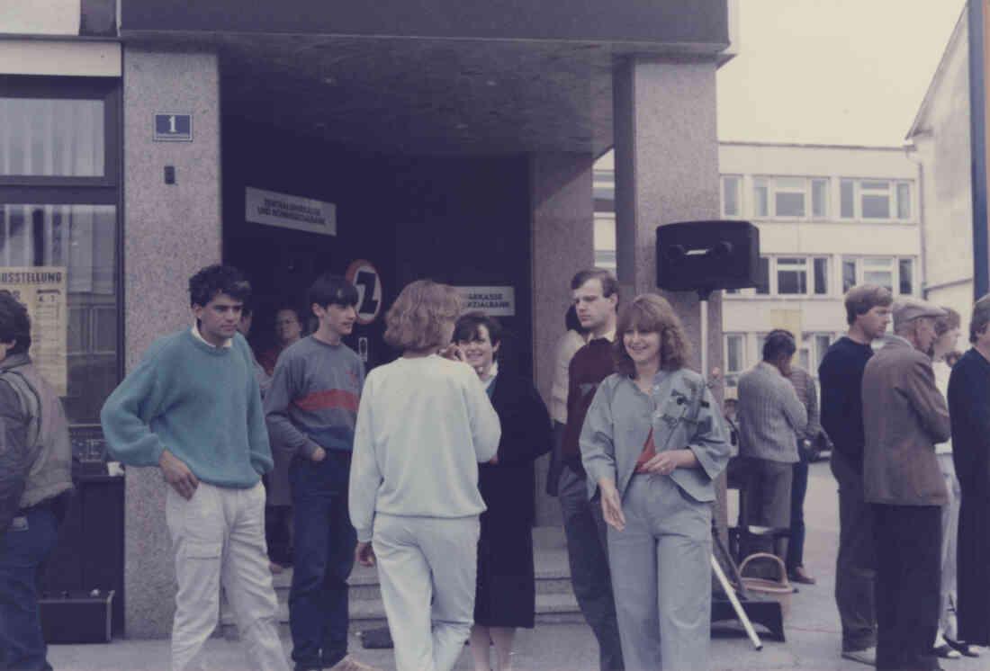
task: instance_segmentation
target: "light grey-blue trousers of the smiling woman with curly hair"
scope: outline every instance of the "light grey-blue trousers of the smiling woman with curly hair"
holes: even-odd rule
[[[709,668],[712,505],[673,480],[634,475],[626,527],[609,527],[622,654],[629,669]]]

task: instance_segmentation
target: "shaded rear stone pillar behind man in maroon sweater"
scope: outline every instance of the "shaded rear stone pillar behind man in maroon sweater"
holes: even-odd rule
[[[594,264],[593,162],[590,153],[541,153],[530,159],[534,375],[547,406],[570,278]],[[537,461],[537,525],[560,527],[560,507],[545,494],[548,463],[548,456]]]

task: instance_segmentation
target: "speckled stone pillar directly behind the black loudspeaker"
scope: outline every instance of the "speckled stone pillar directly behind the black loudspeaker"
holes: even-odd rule
[[[719,144],[713,60],[633,57],[613,77],[616,243],[623,300],[657,292],[656,227],[719,217]],[[660,292],[670,301],[701,365],[701,314],[690,292]],[[708,366],[722,366],[722,296],[708,305]],[[721,386],[713,389],[719,401]],[[725,527],[725,478],[716,519]]]

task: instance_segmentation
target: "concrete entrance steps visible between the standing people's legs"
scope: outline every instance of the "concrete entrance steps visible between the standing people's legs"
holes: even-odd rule
[[[570,568],[562,529],[537,527],[533,529],[533,539],[537,578],[536,622],[583,623],[584,619],[570,586]],[[279,624],[282,633],[288,635],[291,567],[273,574],[272,583],[278,597]],[[385,609],[381,603],[377,570],[355,565],[347,583],[350,586],[348,610],[351,631],[385,626]],[[238,637],[237,623],[226,600],[221,603],[221,623],[218,628],[228,639]]]

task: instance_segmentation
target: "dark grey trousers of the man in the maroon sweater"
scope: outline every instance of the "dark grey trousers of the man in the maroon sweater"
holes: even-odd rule
[[[608,541],[601,504],[588,500],[585,478],[568,466],[564,466],[560,473],[557,498],[563,513],[574,597],[581,607],[584,620],[598,639],[602,671],[620,671],[624,668],[622,643],[612,596]]]

